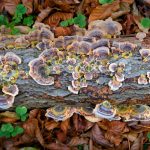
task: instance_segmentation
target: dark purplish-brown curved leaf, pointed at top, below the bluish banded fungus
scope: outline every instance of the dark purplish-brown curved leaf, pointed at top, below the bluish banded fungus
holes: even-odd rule
[[[104,137],[102,130],[95,124],[92,128],[92,139],[97,144],[100,144],[104,147],[112,147],[112,144]]]

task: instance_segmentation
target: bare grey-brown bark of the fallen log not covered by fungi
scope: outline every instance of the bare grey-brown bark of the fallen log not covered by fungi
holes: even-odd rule
[[[116,39],[119,41],[132,41],[137,43],[133,37]],[[144,47],[150,47],[150,38],[147,38],[142,45]],[[4,55],[7,51],[0,51],[0,55]],[[29,70],[28,63],[30,60],[37,58],[41,51],[37,49],[22,49],[11,50],[20,56],[23,60],[21,68],[26,71]],[[111,61],[111,60],[110,60]],[[100,84],[97,84],[94,79],[89,82],[87,88],[81,89],[78,95],[72,94],[68,91],[67,86],[70,85],[71,75],[67,72],[63,72],[61,76],[57,78],[61,82],[61,87],[57,85],[42,86],[38,85],[32,78],[23,80],[19,79],[17,85],[19,87],[19,95],[15,98],[14,106],[24,105],[28,108],[49,107],[56,103],[67,103],[77,105],[79,103],[95,104],[104,99],[112,100],[113,103],[142,103],[150,104],[150,84],[138,85],[137,78],[141,73],[150,71],[150,62],[144,63],[138,51],[136,51],[133,57],[127,59],[129,72],[126,71],[126,80],[123,82],[123,86],[117,91],[111,91],[108,87],[108,82],[111,79],[109,76],[101,75],[99,80]],[[12,109],[12,108],[11,108]]]

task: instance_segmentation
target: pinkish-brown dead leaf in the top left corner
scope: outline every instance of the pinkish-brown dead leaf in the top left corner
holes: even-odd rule
[[[16,10],[16,6],[20,3],[20,0],[0,0],[0,12],[3,10],[13,15]]]

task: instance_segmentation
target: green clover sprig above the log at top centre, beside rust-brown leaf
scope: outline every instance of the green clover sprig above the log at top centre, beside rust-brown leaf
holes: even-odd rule
[[[60,22],[60,26],[62,27],[67,27],[73,24],[78,25],[80,28],[84,28],[87,24],[85,15],[78,13],[76,17]]]

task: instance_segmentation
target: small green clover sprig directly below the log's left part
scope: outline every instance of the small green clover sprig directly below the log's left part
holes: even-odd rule
[[[27,108],[25,106],[17,106],[16,114],[20,118],[21,121],[25,121],[28,117]]]

